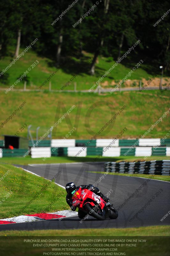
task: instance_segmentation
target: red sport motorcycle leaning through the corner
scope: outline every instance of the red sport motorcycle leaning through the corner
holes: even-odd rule
[[[72,197],[74,207],[78,207],[81,211],[93,216],[98,220],[106,218],[116,219],[118,212],[112,204],[107,203],[89,189],[79,188]]]

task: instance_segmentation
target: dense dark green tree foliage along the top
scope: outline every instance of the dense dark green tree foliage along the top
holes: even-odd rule
[[[23,48],[38,38],[32,48],[49,57],[52,60],[49,65],[61,65],[66,56],[81,57],[82,50],[93,54],[91,65],[98,55],[117,60],[140,40],[132,55],[143,54],[154,67],[159,68],[161,62],[169,68],[170,14],[153,26],[168,11],[168,1],[99,0],[96,4],[96,1],[79,0],[70,8],[72,3],[68,0],[1,1],[0,57],[11,54],[9,46],[17,46],[20,31]],[[73,27],[88,11],[88,16]],[[74,60],[65,71],[75,72],[73,64]]]

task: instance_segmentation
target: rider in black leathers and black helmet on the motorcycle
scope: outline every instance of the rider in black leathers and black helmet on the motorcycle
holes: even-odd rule
[[[99,190],[97,187],[94,187],[94,185],[89,184],[89,185],[80,185],[80,186],[76,187],[76,185],[75,185],[73,182],[69,182],[69,183],[66,184],[66,192],[67,192],[67,195],[66,195],[66,202],[67,202],[67,204],[70,206],[70,208],[71,208],[72,211],[75,211],[75,210],[76,210],[76,207],[74,207],[74,206],[72,205],[72,203],[73,203],[72,196],[73,196],[73,194],[76,192],[76,190],[78,190],[79,188],[81,188],[81,189],[86,188],[86,189],[91,190],[91,191],[92,191],[93,193],[95,193],[97,196],[102,197],[102,199],[106,202],[107,205],[110,204],[110,203],[109,203],[109,200],[110,200],[110,199],[107,198],[107,197],[105,197],[105,196],[100,192],[100,190]],[[109,209],[109,210],[110,210],[110,209]],[[83,211],[83,210],[81,210],[81,209],[78,210],[78,216],[79,216],[80,219],[83,219],[86,215],[87,215],[87,212],[86,212],[86,211]],[[108,213],[107,215],[108,215],[107,218],[111,217],[111,215],[112,215],[111,211],[109,211],[109,213]]]

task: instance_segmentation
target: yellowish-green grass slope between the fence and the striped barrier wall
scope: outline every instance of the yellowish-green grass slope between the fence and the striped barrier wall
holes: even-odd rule
[[[170,107],[170,91],[161,94],[159,91],[147,92],[115,92],[102,96],[88,93],[45,93],[45,92],[0,92],[1,117],[0,124],[4,122],[15,109],[26,101],[26,104],[0,129],[3,134],[27,136],[27,127],[20,132],[24,124],[40,126],[39,136],[42,136],[63,114],[75,105],[57,128],[53,130],[52,137],[62,139],[69,135],[75,126],[77,129],[68,139],[90,139],[111,118],[118,113],[115,122],[109,124],[98,138],[112,138],[120,135],[127,128],[120,139],[139,138],[154,124]],[[99,103],[97,103],[99,102]],[[99,104],[95,107],[93,104]],[[65,106],[65,109],[60,109]],[[126,106],[120,113],[120,109]],[[61,111],[60,111],[61,110]],[[81,110],[76,116],[78,110]],[[91,111],[91,114],[90,114]],[[89,128],[93,131],[90,132]],[[159,122],[146,138],[163,138],[169,131],[169,115]],[[77,133],[76,133],[77,132]]]

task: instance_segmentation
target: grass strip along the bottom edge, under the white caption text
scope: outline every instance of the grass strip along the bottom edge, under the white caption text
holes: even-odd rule
[[[41,230],[41,236],[39,236],[39,230],[13,231],[13,233],[11,231],[3,231],[0,232],[0,235],[1,255],[3,256],[169,255],[169,237],[167,237],[169,235],[169,227],[166,226],[126,229]],[[31,241],[30,239],[37,240]],[[116,241],[115,239],[119,240]],[[51,241],[57,241],[57,243],[51,244]],[[86,244],[83,244],[83,241]]]

